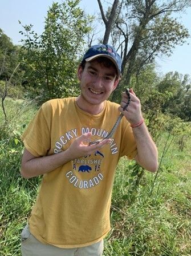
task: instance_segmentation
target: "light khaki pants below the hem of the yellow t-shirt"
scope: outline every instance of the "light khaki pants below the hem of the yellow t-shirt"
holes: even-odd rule
[[[103,240],[86,247],[62,249],[39,242],[26,225],[21,233],[21,250],[22,256],[101,256]]]

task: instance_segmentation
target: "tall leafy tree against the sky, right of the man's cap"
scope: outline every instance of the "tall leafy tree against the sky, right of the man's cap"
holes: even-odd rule
[[[169,55],[175,45],[184,44],[189,37],[188,30],[172,14],[180,13],[189,5],[187,0],[120,1],[111,37],[123,58],[124,79],[113,93],[113,101],[119,100],[121,90],[129,84],[132,74],[153,62],[157,55]]]

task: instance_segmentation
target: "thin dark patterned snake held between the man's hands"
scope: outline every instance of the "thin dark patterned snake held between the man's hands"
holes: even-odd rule
[[[128,96],[128,101],[127,101],[127,104],[125,104],[125,106],[123,107],[123,111],[127,111],[128,105],[131,102],[131,95],[129,93],[129,89],[128,88],[125,90],[125,93]],[[113,136],[113,134],[115,133],[115,131],[116,131],[116,129],[117,129],[117,127],[118,127],[118,125],[119,125],[119,123],[120,123],[120,121],[121,121],[123,116],[124,116],[123,113],[120,113],[120,115],[118,116],[115,124],[113,125],[113,128],[111,129],[111,131],[108,133],[108,135],[104,139],[110,139]],[[103,141],[104,139],[91,141],[89,143],[89,145],[98,144],[101,141]]]

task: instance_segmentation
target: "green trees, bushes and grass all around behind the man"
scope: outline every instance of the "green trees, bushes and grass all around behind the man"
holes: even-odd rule
[[[19,237],[41,180],[40,177],[25,180],[19,174],[23,152],[20,136],[44,101],[79,94],[76,68],[82,52],[95,40],[94,17],[85,14],[79,8],[79,2],[53,3],[47,12],[41,35],[32,30],[31,24],[21,24],[22,46],[13,45],[0,29],[1,255],[21,255]],[[124,3],[118,2],[120,5]],[[143,14],[144,3],[149,1],[127,2],[131,3],[130,13],[140,11]],[[189,4],[189,1],[175,2]],[[152,7],[155,11],[159,6]],[[123,34],[116,27],[125,19],[124,13],[118,15],[119,10],[113,21],[114,29],[110,31],[111,43],[116,46],[116,38],[121,38]],[[105,14],[108,20],[110,14],[111,8],[108,8]],[[156,49],[148,41],[154,27],[157,30],[154,39],[156,35],[160,37],[160,24],[171,35],[180,33],[182,40],[188,36],[186,29],[176,21],[173,23],[169,19],[170,26],[164,23],[170,18],[169,15],[164,15],[157,27],[152,26],[153,23],[140,30],[139,23],[131,24],[134,32],[130,41],[133,42],[137,31],[141,31],[147,40],[140,41],[141,47],[134,56],[129,78],[130,62],[124,66],[121,88],[127,85],[129,79],[141,100],[145,122],[159,148],[160,166],[156,174],[150,174],[134,162],[120,160],[113,188],[112,230],[105,239],[105,256],[190,255],[190,76],[177,72],[160,76],[155,69],[155,57],[149,58],[144,65],[138,65],[142,63],[144,53],[149,54],[149,51],[151,53]],[[163,37],[160,39],[164,41]],[[169,52],[174,46],[171,39],[169,44],[172,48],[169,44],[165,46]],[[116,101],[119,100],[117,96]]]

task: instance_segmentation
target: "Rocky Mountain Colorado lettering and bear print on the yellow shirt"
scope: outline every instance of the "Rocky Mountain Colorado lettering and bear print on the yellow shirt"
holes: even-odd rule
[[[62,152],[64,148],[64,150],[66,150],[69,141],[87,132],[92,133],[92,140],[94,140],[94,136],[99,136],[99,139],[104,139],[108,135],[108,132],[104,129],[82,127],[80,132],[78,132],[76,128],[70,129],[70,131],[64,133],[60,136],[59,140],[55,142],[54,153]],[[88,143],[90,141],[86,142]],[[111,155],[118,152],[118,147],[114,139],[110,141],[109,148]],[[72,186],[80,189],[88,189],[99,185],[101,180],[104,179],[103,170],[101,170],[101,163],[103,163],[103,161],[104,153],[101,152],[101,150],[97,150],[91,155],[72,160],[72,170],[66,172],[68,182],[70,182]]]

